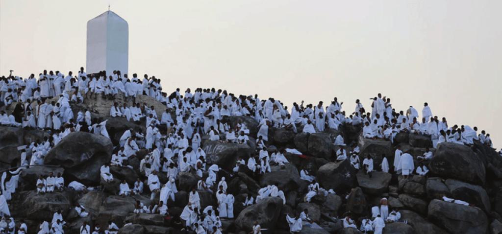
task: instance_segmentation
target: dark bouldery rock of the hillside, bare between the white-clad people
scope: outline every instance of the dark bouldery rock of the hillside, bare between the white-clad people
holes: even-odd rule
[[[123,97],[115,101],[128,103]],[[154,105],[158,116],[165,111],[165,106],[147,96],[139,96],[138,102]],[[118,233],[195,233],[182,231],[179,215],[188,203],[188,192],[197,186],[200,179],[195,173],[180,173],[176,181],[178,192],[175,201],[169,200],[169,214],[166,219],[160,214],[133,212],[135,203],[140,200],[145,205],[158,202],[157,196],[150,200],[149,194],[121,197],[117,195],[118,184],[126,180],[132,185],[137,178],[147,178],[140,172],[140,161],[147,154],[140,152],[129,158],[132,167],[111,166],[112,182],[103,181],[99,176],[101,165],[110,161],[114,146],[122,133],[128,129],[145,131],[145,124],[129,122],[124,118],[108,116],[113,102],[98,98],[86,99],[84,103],[72,104],[75,112],[87,108],[93,118],[99,121],[108,119],[106,129],[110,139],[87,132],[73,132],[55,145],[43,159],[44,165],[23,169],[19,186],[8,202],[12,216],[17,221],[28,224],[29,233],[36,233],[41,221],[52,219],[56,210],[62,210],[66,221],[65,233],[79,233],[83,222],[99,223],[106,227],[109,220],[120,228]],[[472,146],[455,143],[441,143],[434,149],[434,157],[427,166],[427,176],[414,174],[403,178],[396,173],[377,171],[372,177],[362,171],[356,171],[349,160],[335,161],[338,146],[333,144],[336,136],[342,134],[347,144],[347,151],[359,146],[360,161],[372,156],[374,165],[380,170],[380,163],[385,156],[392,165],[395,148],[409,152],[415,158],[422,156],[426,147],[431,147],[430,138],[415,133],[399,133],[394,143],[382,139],[361,137],[361,127],[342,125],[339,130],[326,130],[319,133],[294,133],[286,129],[269,129],[268,148],[294,148],[303,155],[287,153],[289,164],[281,167],[273,165],[271,172],[255,175],[245,165],[237,173],[232,172],[237,158],[247,161],[249,156],[257,154],[254,144],[258,123],[249,117],[230,117],[229,124],[235,126],[239,120],[246,123],[250,130],[249,144],[210,141],[202,137],[202,149],[206,153],[207,164],[218,164],[218,180],[225,177],[227,192],[235,196],[233,219],[221,219],[226,233],[248,233],[257,221],[263,233],[289,233],[286,214],[294,211],[309,210],[310,217],[322,228],[304,225],[300,233],[361,233],[354,228],[343,228],[341,218],[348,213],[354,220],[371,216],[371,207],[379,205],[386,197],[392,208],[401,212],[401,220],[407,222],[387,223],[384,233],[501,233],[502,232],[502,157],[483,144],[475,141]],[[165,134],[166,129],[161,129]],[[41,130],[26,130],[16,127],[0,127],[0,167],[3,171],[19,166],[21,152],[18,146],[27,145],[49,136]],[[28,157],[31,152],[27,152]],[[307,193],[306,180],[300,179],[300,170],[307,169],[320,186],[333,189],[336,194],[315,195],[310,202],[304,200]],[[35,183],[40,175],[62,173],[65,185],[77,180],[96,189],[77,192],[65,188],[63,191],[37,194]],[[204,172],[204,177],[206,172]],[[161,183],[167,182],[165,174],[159,173]],[[267,185],[277,185],[286,197],[286,202],[279,197],[268,197],[257,204],[247,207],[242,205],[247,194],[256,196],[258,190]],[[145,182],[145,190],[148,186]],[[214,192],[199,191],[202,209],[208,205],[217,207]],[[468,202],[462,205],[443,200],[443,196]],[[75,212],[76,204],[84,205],[89,212],[87,217],[79,217]],[[339,217],[340,219],[337,219]],[[130,225],[123,226],[126,223]],[[358,225],[359,226],[359,225]]]

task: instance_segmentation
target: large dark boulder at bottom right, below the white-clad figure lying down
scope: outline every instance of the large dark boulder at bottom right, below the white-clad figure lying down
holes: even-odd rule
[[[429,220],[451,233],[486,233],[488,218],[477,207],[434,199],[429,203]]]

